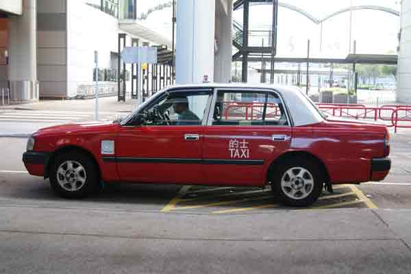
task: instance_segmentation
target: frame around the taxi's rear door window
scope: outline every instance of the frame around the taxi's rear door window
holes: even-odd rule
[[[268,96],[269,94],[276,95],[279,100],[281,101],[283,107],[284,107],[284,112],[286,114],[286,119],[287,119],[287,125],[213,125],[214,121],[214,109],[216,105],[216,101],[218,99],[218,94],[219,92],[258,92],[258,93],[263,93],[265,95],[266,101],[264,102],[264,112],[266,111],[266,104],[268,101]],[[210,106],[210,113],[208,114],[208,119],[207,119],[207,125],[212,126],[212,127],[227,127],[227,126],[232,126],[232,127],[293,127],[292,119],[290,116],[290,112],[288,110],[288,106],[286,105],[283,97],[277,90],[269,89],[269,88],[214,88],[214,96],[211,102]]]

